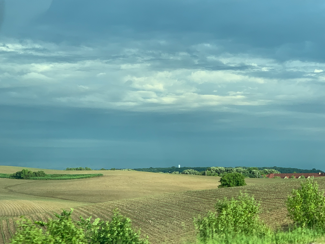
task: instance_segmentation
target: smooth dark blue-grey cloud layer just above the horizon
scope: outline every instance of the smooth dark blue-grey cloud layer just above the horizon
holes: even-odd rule
[[[8,165],[100,169],[180,163],[305,168],[309,162],[309,168],[322,168],[325,156],[325,131],[300,131],[308,119],[295,116],[19,106],[1,106],[0,112],[1,155]],[[322,123],[322,118],[309,117]]]

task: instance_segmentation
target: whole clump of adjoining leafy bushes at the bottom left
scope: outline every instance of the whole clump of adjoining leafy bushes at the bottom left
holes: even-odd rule
[[[63,210],[57,219],[45,222],[32,222],[22,218],[18,231],[11,239],[13,244],[149,244],[148,239],[140,238],[140,231],[135,232],[131,220],[114,211],[111,221],[80,217],[80,222],[73,222],[71,213]]]

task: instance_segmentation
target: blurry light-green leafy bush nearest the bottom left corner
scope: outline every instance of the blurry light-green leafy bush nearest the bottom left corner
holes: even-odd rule
[[[22,218],[17,233],[11,239],[13,244],[85,244],[84,230],[72,222],[71,213],[63,210],[56,214],[57,220],[32,222]],[[19,221],[18,221],[19,222]],[[42,228],[44,227],[44,229]]]

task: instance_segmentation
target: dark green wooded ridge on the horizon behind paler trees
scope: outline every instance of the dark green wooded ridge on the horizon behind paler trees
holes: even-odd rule
[[[145,172],[154,172],[154,173],[157,173],[157,172],[163,172],[163,173],[172,173],[174,171],[178,171],[178,172],[183,172],[184,170],[186,169],[194,169],[194,170],[197,170],[199,172],[201,171],[205,171],[207,169],[209,169],[210,167],[181,167],[181,168],[177,168],[175,166],[173,167],[169,167],[169,168],[142,168],[142,169],[134,169],[136,171],[145,171]],[[226,169],[229,169],[229,168],[232,168],[232,167],[227,167]],[[241,167],[243,169],[248,169],[250,167]],[[278,170],[279,172],[281,173],[324,173],[324,171],[320,170],[320,169],[297,169],[297,168],[283,168],[283,167],[257,167],[257,169],[259,170],[263,170],[263,169],[275,169],[275,170]]]

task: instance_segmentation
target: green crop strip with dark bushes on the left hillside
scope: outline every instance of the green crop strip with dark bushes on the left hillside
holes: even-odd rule
[[[24,170],[25,169],[23,169],[22,171],[24,171]],[[21,172],[21,171],[19,171],[19,172]],[[103,174],[45,174],[44,171],[37,171],[37,172],[30,171],[32,173],[37,173],[37,174],[28,173],[26,176],[26,174],[20,174],[19,172],[16,172],[14,174],[1,174],[0,173],[0,178],[25,179],[25,180],[76,180],[76,179],[86,179],[86,178],[103,176]],[[24,172],[26,172],[26,171],[24,171]],[[42,172],[45,174],[45,176],[36,176],[36,175],[44,175]]]

